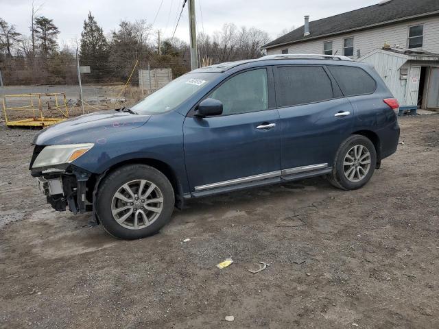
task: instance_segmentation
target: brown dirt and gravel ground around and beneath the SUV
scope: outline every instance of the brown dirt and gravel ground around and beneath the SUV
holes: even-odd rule
[[[361,190],[198,199],[138,241],[51,210],[27,170],[34,132],[1,126],[0,327],[439,328],[439,114],[400,124]]]

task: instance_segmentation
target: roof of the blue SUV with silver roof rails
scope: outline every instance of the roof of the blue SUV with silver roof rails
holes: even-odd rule
[[[226,72],[230,69],[235,68],[236,66],[240,66],[243,64],[250,64],[250,63],[259,63],[259,65],[252,65],[252,66],[263,66],[267,65],[265,61],[270,61],[270,64],[278,64],[279,62],[283,62],[285,60],[288,60],[288,62],[285,62],[285,64],[292,64],[291,60],[300,60],[300,63],[302,64],[302,60],[306,60],[307,64],[324,64],[321,61],[337,61],[337,64],[344,64],[346,62],[353,62],[351,58],[345,57],[345,56],[333,56],[333,55],[322,55],[322,54],[310,54],[310,53],[292,53],[292,54],[278,54],[278,55],[268,55],[263,56],[261,58],[255,58],[252,60],[237,60],[235,62],[224,62],[220,64],[213,64],[210,66],[204,66],[200,69],[195,69],[191,73],[201,73],[201,72]],[[347,63],[346,63],[347,64]]]

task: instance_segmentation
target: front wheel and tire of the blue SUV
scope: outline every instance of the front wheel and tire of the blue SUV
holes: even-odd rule
[[[112,236],[141,239],[155,234],[171,219],[174,189],[166,176],[153,167],[124,166],[109,173],[99,185],[97,215]]]

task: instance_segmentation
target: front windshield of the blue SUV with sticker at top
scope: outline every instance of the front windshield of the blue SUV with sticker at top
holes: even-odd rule
[[[174,108],[198,90],[204,88],[219,74],[204,72],[182,75],[139,101],[139,103],[131,107],[131,110],[139,114],[159,114],[174,110]]]

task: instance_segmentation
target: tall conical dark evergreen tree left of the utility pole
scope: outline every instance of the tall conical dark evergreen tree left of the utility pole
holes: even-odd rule
[[[91,77],[99,78],[108,73],[108,42],[91,12],[81,33],[80,62],[90,66]]]

